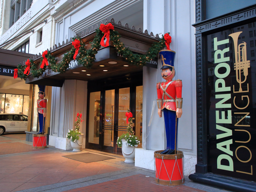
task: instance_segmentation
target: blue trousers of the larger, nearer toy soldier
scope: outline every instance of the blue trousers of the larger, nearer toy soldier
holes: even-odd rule
[[[177,143],[177,132],[178,132],[178,118],[177,118],[177,131],[175,134],[176,126],[176,111],[163,109],[164,112],[164,123],[166,132],[166,148],[175,150],[175,138]]]

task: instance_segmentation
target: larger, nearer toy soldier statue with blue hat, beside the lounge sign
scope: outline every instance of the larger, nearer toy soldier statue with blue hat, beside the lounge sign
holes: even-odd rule
[[[158,115],[164,112],[166,149],[161,154],[176,154],[178,119],[182,115],[182,81],[173,80],[175,75],[174,58],[172,50],[159,51],[162,61],[162,77],[165,82],[156,84]]]

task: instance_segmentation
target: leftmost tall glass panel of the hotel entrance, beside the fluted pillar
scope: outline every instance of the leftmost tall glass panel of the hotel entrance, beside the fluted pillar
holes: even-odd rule
[[[100,91],[90,93],[88,142],[99,144]]]

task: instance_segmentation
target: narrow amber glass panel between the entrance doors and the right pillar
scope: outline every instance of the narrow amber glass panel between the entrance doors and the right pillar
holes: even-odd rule
[[[135,133],[142,141],[142,97],[143,86],[136,87],[136,117],[135,117]]]

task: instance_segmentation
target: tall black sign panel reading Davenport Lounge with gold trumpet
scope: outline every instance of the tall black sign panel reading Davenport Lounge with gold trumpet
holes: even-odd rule
[[[255,22],[207,36],[208,172],[256,182]]]

